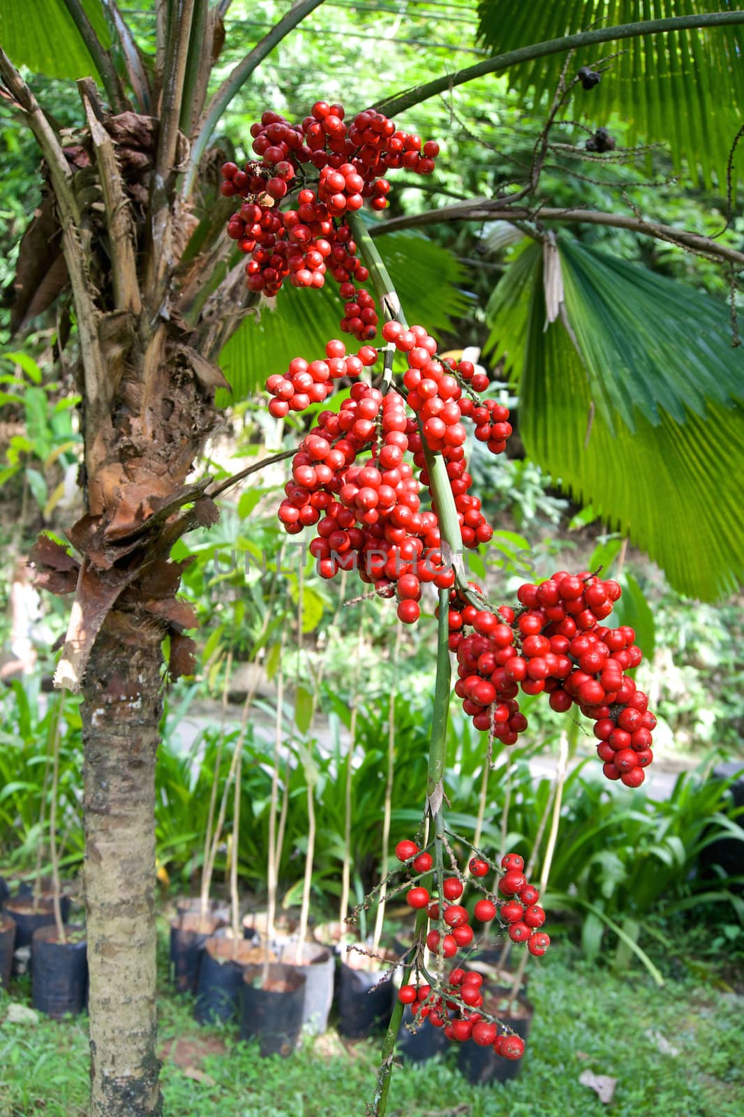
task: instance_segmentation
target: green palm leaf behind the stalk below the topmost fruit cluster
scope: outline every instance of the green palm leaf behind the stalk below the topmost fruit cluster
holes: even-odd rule
[[[416,233],[391,233],[379,244],[409,321],[426,322],[431,331],[446,330],[449,317],[467,305],[455,286],[464,276],[455,257]],[[342,314],[333,281],[319,290],[287,285],[277,296],[275,311],[264,307],[260,315],[250,314],[222,349],[220,367],[232,397],[219,393],[218,404],[246,399],[270,373],[283,372],[294,356],[322,356],[328,338],[340,336]],[[350,351],[353,346],[352,338]]]

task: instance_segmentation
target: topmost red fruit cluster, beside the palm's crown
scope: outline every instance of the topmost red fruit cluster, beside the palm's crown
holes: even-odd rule
[[[384,209],[389,170],[430,174],[439,145],[401,132],[382,113],[357,113],[345,123],[343,105],[318,101],[302,124],[267,109],[251,125],[257,159],[241,169],[225,163],[222,194],[242,204],[227,232],[250,255],[246,281],[252,292],[278,294],[285,279],[296,287],[322,287],[330,273],[346,308],[341,326],[360,341],[376,335],[378,314],[369,292],[357,288],[369,271],[356,256],[345,214],[368,200]],[[317,171],[315,179],[313,172]],[[294,198],[296,208],[280,209]]]

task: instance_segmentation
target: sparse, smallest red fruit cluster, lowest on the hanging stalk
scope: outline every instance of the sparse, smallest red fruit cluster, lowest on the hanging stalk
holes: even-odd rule
[[[395,847],[399,861],[410,866],[417,873],[426,873],[432,867],[431,855],[420,851],[416,842],[404,840]],[[484,877],[490,871],[488,861],[480,857],[470,860],[474,877]],[[508,928],[513,943],[526,943],[535,957],[542,957],[550,946],[550,937],[541,929],[545,913],[537,904],[540,892],[524,875],[524,860],[518,853],[506,853],[502,858],[498,894],[478,899],[474,906],[474,917],[480,923],[490,923],[496,916]],[[439,897],[432,899],[428,888],[411,887],[406,896],[410,907],[427,909],[431,920],[440,919],[447,930],[442,934],[432,927],[427,933],[427,946],[432,953],[445,958],[454,957],[460,948],[467,948],[474,939],[470,914],[460,903],[464,896],[464,880],[447,877],[441,885]],[[497,1054],[507,1059],[519,1059],[524,1052],[524,1041],[518,1035],[499,1033],[498,1021],[484,1015],[483,975],[464,967],[451,970],[445,985],[435,989],[430,984],[417,983],[401,986],[398,999],[410,1004],[416,1023],[428,1019],[435,1028],[442,1028],[449,1040],[467,1042],[473,1040],[483,1047],[493,1047]]]

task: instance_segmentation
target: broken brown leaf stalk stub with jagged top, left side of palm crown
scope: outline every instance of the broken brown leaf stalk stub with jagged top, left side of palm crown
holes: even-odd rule
[[[83,78],[77,83],[77,87],[83,98],[83,107],[90,130],[104,206],[106,207],[114,302],[117,311],[131,311],[133,314],[139,314],[142,300],[137,283],[137,265],[134,254],[135,236],[130,203],[124,193],[114,144],[93,111],[87,88],[89,78]],[[95,86],[93,86],[93,90],[95,92]]]

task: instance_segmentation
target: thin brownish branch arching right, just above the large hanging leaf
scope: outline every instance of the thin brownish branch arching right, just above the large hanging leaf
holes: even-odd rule
[[[679,248],[690,248],[696,252],[716,256],[744,267],[744,252],[721,245],[710,237],[703,237],[686,229],[675,229],[670,225],[646,221],[643,218],[627,213],[603,213],[601,210],[554,209],[546,206],[533,210],[526,208],[511,209],[504,204],[504,199],[484,199],[480,202],[462,202],[457,206],[442,206],[438,210],[427,210],[423,213],[395,217],[390,221],[380,222],[370,230],[373,237],[382,237],[387,232],[400,229],[414,229],[425,225],[437,225],[439,221],[509,221],[518,226],[521,221],[562,221],[572,225],[607,225],[616,229],[630,229],[632,232],[666,240]]]

